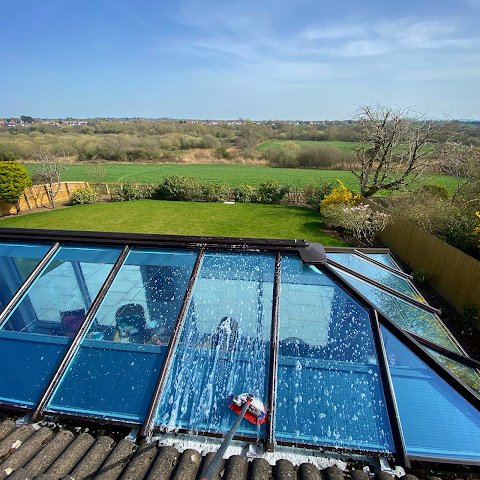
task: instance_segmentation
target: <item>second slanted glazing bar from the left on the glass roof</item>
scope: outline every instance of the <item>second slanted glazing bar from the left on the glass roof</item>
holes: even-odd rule
[[[60,380],[65,373],[66,369],[68,368],[70,362],[72,361],[73,357],[75,356],[78,348],[80,347],[80,343],[85,335],[85,333],[88,330],[88,327],[90,326],[90,323],[94,319],[97,310],[100,308],[100,305],[103,302],[103,299],[105,298],[105,295],[107,294],[108,289],[113,283],[113,280],[115,279],[118,271],[122,267],[123,263],[125,262],[125,259],[127,258],[128,253],[130,252],[130,246],[125,245],[123,247],[123,250],[121,251],[120,255],[118,256],[116,262],[113,264],[112,269],[110,270],[110,273],[108,274],[107,278],[105,279],[105,282],[102,285],[102,288],[98,292],[97,296],[95,297],[95,300],[92,302],[92,305],[90,306],[87,314],[85,315],[85,318],[83,319],[80,328],[78,329],[77,333],[72,339],[72,343],[68,346],[66,352],[64,353],[59,365],[55,369],[55,372],[52,375],[52,378],[48,382],[47,386],[45,387],[45,390],[43,391],[42,395],[40,396],[40,399],[38,400],[37,404],[35,405],[35,408],[32,410],[30,413],[30,420],[36,422],[42,418],[43,411],[45,410],[45,407],[47,406],[48,402],[50,401],[51,396],[53,395],[53,392],[55,391],[55,388],[57,385],[60,383]]]

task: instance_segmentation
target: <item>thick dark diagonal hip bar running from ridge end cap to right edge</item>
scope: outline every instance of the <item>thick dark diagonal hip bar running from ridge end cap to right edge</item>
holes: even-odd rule
[[[345,280],[330,265],[320,265],[318,267],[330,278],[340,284],[352,297],[360,302],[364,307],[374,309],[378,313],[378,319],[393,335],[395,335],[406,347],[408,347],[417,357],[425,362],[435,373],[445,380],[454,390],[470,402],[478,411],[480,411],[480,396],[478,396],[470,387],[463,383],[447,367],[440,363],[433,355],[425,350],[408,331],[399,327],[390,317],[379,310],[368,298],[362,295],[355,287]]]

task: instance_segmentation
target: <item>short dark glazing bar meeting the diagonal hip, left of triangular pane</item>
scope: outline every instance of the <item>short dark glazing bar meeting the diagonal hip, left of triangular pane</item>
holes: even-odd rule
[[[402,425],[400,423],[400,415],[398,413],[397,401],[395,399],[392,377],[390,375],[390,369],[388,368],[385,345],[383,343],[380,325],[378,323],[377,311],[371,308],[369,316],[377,350],[378,366],[382,377],[383,393],[387,404],[388,418],[390,419],[390,428],[392,429],[393,443],[395,445],[395,458],[399,465],[408,468],[410,467],[410,461],[405,447],[405,439],[403,437]]]

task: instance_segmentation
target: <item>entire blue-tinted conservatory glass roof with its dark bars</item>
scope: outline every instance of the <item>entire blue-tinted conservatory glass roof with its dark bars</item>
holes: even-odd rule
[[[0,404],[480,463],[480,363],[386,251],[297,240],[0,229]]]

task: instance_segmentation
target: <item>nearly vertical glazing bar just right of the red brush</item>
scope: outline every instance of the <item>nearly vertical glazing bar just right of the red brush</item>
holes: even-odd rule
[[[277,400],[278,370],[278,314],[280,310],[280,286],[282,271],[282,254],[277,252],[273,280],[272,328],[270,335],[270,362],[268,368],[267,421],[265,424],[265,451],[275,449],[275,403]]]

